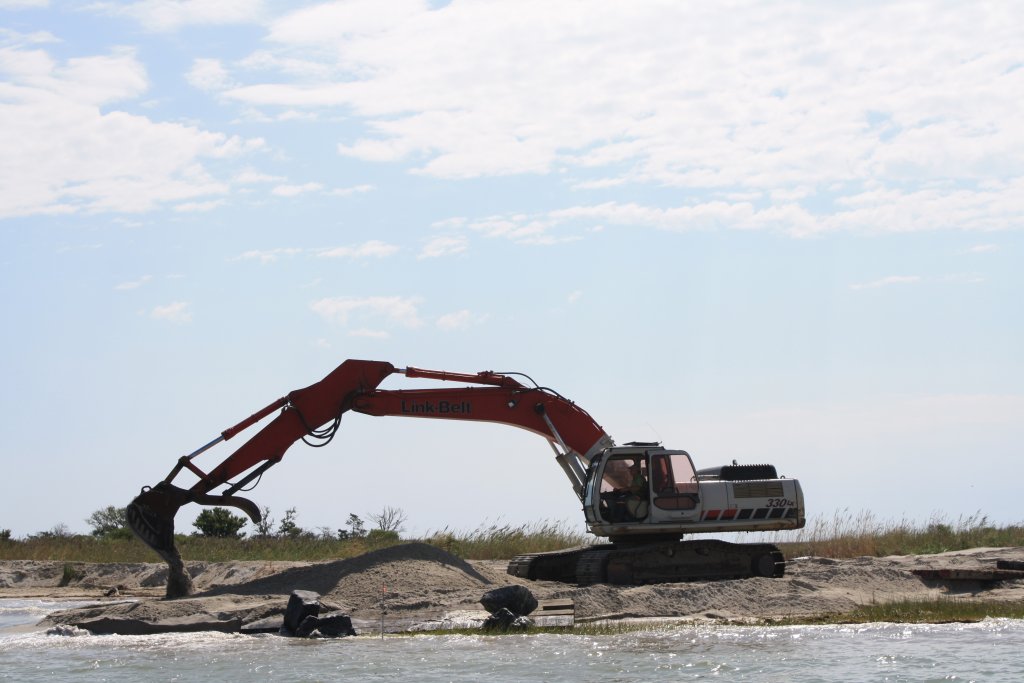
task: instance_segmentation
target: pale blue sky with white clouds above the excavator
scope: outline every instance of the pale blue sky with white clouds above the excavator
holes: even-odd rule
[[[1019,1],[0,0],[0,528],[87,532],[346,358],[525,373],[812,520],[1020,523],[1022,35]],[[490,424],[349,414],[249,497],[584,528]]]

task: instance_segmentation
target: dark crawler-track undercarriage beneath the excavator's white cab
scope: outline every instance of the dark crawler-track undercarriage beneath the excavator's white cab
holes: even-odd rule
[[[721,579],[777,579],[785,558],[772,544],[672,541],[642,545],[598,545],[519,555],[508,573],[532,581],[580,586],[671,584]]]

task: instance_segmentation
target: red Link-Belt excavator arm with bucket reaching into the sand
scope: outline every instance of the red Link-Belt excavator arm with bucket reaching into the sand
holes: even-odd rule
[[[378,386],[392,374],[466,382],[469,387],[384,390]],[[171,472],[153,487],[145,486],[128,505],[131,529],[167,560],[180,585],[168,583],[168,597],[191,592],[174,546],[174,517],[188,503],[230,506],[244,511],[253,522],[260,520],[259,507],[237,496],[258,482],[263,473],[281,462],[293,443],[302,439],[324,445],[334,436],[342,415],[348,411],[371,416],[401,416],[442,420],[497,422],[532,431],[548,440],[577,496],[583,498],[586,468],[594,455],[614,445],[590,415],[557,392],[526,386],[511,374],[482,372],[475,375],[398,369],[379,360],[345,360],[319,382],[292,391],[246,418],[193,453],[182,456]],[[269,417],[280,414],[248,441],[209,472],[197,458]],[[318,441],[318,442],[317,442]],[[172,483],[183,470],[199,480],[188,488]],[[232,481],[234,479],[234,481]],[[218,486],[226,485],[219,494]],[[176,570],[176,568],[179,568]],[[174,593],[174,595],[172,595]]]

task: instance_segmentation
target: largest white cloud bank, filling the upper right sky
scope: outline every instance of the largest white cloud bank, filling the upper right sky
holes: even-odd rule
[[[1019,225],[1013,5],[371,5],[272,22],[246,84],[225,95],[340,110],[366,131],[339,140],[341,154],[431,176],[558,172],[588,191],[702,193],[660,218],[670,229],[691,218],[795,236]],[[301,71],[286,67],[295,60]],[[552,240],[540,231],[524,240]]]

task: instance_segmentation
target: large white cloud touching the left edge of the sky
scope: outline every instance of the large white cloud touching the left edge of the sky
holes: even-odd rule
[[[262,141],[114,108],[147,86],[129,49],[58,62],[42,50],[0,48],[0,218],[140,212],[225,195],[203,161]]]

